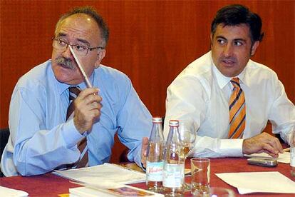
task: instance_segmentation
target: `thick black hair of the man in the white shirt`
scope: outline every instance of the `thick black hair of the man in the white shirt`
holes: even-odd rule
[[[212,35],[215,33],[219,24],[223,26],[246,24],[250,29],[252,43],[254,43],[254,41],[262,41],[264,36],[264,33],[261,32],[262,19],[260,16],[250,11],[246,6],[239,4],[224,6],[217,11],[211,24]]]

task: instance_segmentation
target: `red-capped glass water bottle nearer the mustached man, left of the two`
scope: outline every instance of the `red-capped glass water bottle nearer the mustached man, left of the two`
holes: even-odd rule
[[[162,118],[152,118],[152,131],[148,142],[146,184],[148,190],[162,192],[164,137],[162,131]]]

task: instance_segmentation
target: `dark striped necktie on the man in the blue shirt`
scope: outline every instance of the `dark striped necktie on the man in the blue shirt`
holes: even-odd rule
[[[69,87],[69,100],[70,100],[70,105],[68,106],[68,111],[66,112],[66,120],[72,115],[72,113],[75,111],[75,106],[74,106],[74,100],[77,98],[77,96],[80,94],[80,89],[77,87]],[[77,163],[74,165],[76,168],[82,168],[88,166],[88,148],[87,148],[87,138],[84,137],[81,141],[77,143],[78,149],[81,152],[81,156]],[[69,165],[68,168],[73,167],[73,165]]]

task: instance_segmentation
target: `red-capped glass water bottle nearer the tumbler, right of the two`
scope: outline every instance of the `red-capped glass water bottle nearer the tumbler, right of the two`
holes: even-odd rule
[[[185,156],[178,133],[178,121],[169,121],[170,131],[165,144],[163,192],[165,196],[184,196]]]

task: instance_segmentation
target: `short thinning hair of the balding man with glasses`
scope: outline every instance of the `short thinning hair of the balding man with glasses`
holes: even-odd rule
[[[74,14],[86,14],[93,18],[98,24],[98,28],[100,29],[100,34],[102,37],[101,39],[103,40],[101,45],[105,47],[108,44],[108,26],[105,24],[105,21],[103,21],[103,17],[101,17],[91,6],[77,7],[72,9],[71,11],[68,11],[66,14],[61,15],[61,18],[59,18],[56,24],[56,31],[58,29],[58,26],[60,26],[61,21],[68,18],[68,16],[72,16]]]

